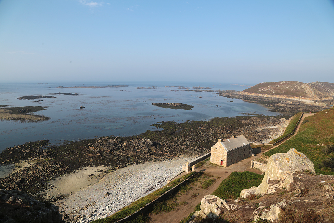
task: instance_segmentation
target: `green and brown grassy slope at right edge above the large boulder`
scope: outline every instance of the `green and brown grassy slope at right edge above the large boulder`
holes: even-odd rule
[[[271,156],[275,153],[287,152],[295,148],[304,153],[315,165],[315,168],[334,154],[324,153],[321,144],[334,144],[334,108],[317,112],[314,116],[305,118],[297,135],[285,141],[277,148],[265,152],[264,155]],[[319,145],[318,145],[319,144]],[[317,170],[319,172],[319,170]],[[324,174],[324,173],[323,173]],[[333,174],[333,173],[329,173]]]

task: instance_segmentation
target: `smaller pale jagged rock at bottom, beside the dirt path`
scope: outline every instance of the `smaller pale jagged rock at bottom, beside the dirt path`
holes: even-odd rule
[[[236,204],[227,204],[225,200],[214,195],[206,195],[201,200],[201,210],[196,211],[192,219],[199,216],[201,218],[217,218],[225,210],[234,211],[238,209]]]

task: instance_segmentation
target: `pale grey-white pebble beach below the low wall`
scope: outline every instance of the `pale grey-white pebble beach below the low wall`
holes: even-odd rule
[[[108,217],[139,198],[166,185],[169,178],[182,171],[182,164],[195,158],[197,156],[179,157],[167,161],[146,162],[121,168],[104,176],[96,184],[57,201],[55,205],[59,206],[59,211],[64,219],[73,222],[88,223]],[[80,171],[78,173],[80,174]],[[74,180],[78,178],[75,173],[66,177]],[[66,184],[65,181],[63,184]],[[61,184],[54,186],[56,187],[47,191],[49,194],[56,193],[61,187],[67,187]]]

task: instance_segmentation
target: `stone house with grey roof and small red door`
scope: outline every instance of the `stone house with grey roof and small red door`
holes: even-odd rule
[[[211,147],[210,162],[226,167],[252,156],[252,153],[253,149],[243,135],[232,135],[228,139],[218,139]]]

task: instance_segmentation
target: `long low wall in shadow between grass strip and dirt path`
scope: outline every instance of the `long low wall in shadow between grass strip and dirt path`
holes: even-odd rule
[[[148,203],[147,205],[145,205],[144,207],[142,207],[141,209],[139,209],[138,211],[136,211],[135,213],[121,219],[118,221],[115,221],[114,223],[124,223],[124,222],[128,222],[131,221],[133,219],[135,219],[136,217],[138,217],[141,214],[145,214],[148,211],[152,210],[153,206],[155,203],[164,200],[167,196],[169,196],[170,194],[172,194],[176,189],[178,189],[181,185],[187,183],[189,181],[189,179],[193,178],[194,176],[196,176],[198,174],[198,172],[190,177],[188,177],[187,179],[185,179],[184,181],[182,181],[181,183],[179,183],[178,185],[176,185],[175,187],[169,189],[167,192],[165,192],[163,195],[161,195],[160,197],[158,197],[157,199],[153,200],[151,203]]]

